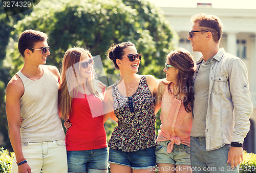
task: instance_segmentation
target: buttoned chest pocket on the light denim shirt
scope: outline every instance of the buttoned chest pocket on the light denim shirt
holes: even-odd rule
[[[214,86],[212,87],[212,92],[216,94],[227,93],[228,81],[227,76],[215,75],[214,76]]]

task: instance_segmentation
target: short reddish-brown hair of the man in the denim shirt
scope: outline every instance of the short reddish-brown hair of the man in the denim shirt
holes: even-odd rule
[[[199,13],[191,17],[193,23],[198,22],[203,30],[210,31],[215,42],[219,42],[222,37],[223,25],[221,19],[215,15]]]

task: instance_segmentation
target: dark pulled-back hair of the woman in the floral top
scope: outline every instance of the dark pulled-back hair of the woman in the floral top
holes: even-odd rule
[[[106,51],[106,57],[109,57],[113,61],[116,69],[119,69],[116,63],[116,59],[122,59],[123,50],[129,46],[135,46],[135,45],[130,41],[122,42],[118,45],[112,44],[109,50]]]

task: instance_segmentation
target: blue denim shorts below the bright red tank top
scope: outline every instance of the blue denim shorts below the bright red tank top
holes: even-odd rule
[[[68,151],[68,172],[108,172],[108,149]]]

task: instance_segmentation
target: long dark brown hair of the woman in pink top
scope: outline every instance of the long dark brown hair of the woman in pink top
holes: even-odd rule
[[[186,112],[191,112],[191,106],[194,100],[194,88],[193,88],[193,77],[195,72],[195,62],[191,54],[185,49],[177,49],[171,51],[166,56],[171,66],[179,70],[177,76],[177,95],[183,93],[185,95],[185,100],[183,104]],[[168,92],[172,93],[170,90],[170,85],[173,82],[168,83]]]

